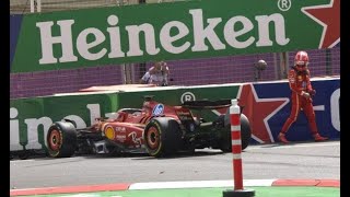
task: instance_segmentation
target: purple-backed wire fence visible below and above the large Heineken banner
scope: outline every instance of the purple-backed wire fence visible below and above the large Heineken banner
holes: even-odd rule
[[[33,0],[34,1],[34,0]],[[38,0],[36,0],[38,1]],[[142,0],[40,0],[42,12],[142,3]],[[174,1],[174,0],[168,0]],[[143,0],[144,2],[144,0]],[[165,1],[145,1],[156,3]],[[11,13],[31,12],[31,0],[10,0]],[[340,47],[306,50],[312,77],[340,74]],[[270,81],[287,78],[295,51],[168,60],[171,85],[201,85]],[[258,74],[255,63],[264,59],[267,69]],[[139,83],[152,62],[110,65],[71,70],[10,73],[11,99],[77,92],[95,85]]]

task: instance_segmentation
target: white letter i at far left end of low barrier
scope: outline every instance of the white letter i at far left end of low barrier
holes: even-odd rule
[[[20,143],[20,124],[16,118],[19,111],[14,107],[10,108],[10,150],[23,150]],[[11,120],[12,119],[12,120]]]

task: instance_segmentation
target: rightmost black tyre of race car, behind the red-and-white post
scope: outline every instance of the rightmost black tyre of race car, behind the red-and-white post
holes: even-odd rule
[[[225,128],[228,129],[228,134],[224,135],[224,139],[221,140],[220,149],[223,152],[231,152],[232,151],[232,143],[231,143],[231,124],[230,124],[230,114],[226,113],[225,115],[221,115],[219,118],[224,119]],[[246,149],[249,146],[249,141],[252,138],[252,129],[248,118],[241,114],[241,143],[242,150]]]

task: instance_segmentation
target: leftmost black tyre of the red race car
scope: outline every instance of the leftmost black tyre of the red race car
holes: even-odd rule
[[[54,123],[47,132],[47,153],[51,158],[69,158],[77,148],[77,131],[69,121]]]

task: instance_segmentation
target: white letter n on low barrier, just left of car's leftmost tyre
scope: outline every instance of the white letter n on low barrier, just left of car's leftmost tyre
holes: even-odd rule
[[[28,139],[28,143],[25,146],[25,149],[42,149],[42,148],[44,148],[39,143],[38,126],[39,125],[44,126],[44,136],[46,137],[49,127],[52,125],[51,118],[49,118],[49,117],[40,117],[38,119],[28,118],[28,119],[25,119],[24,123],[27,126],[27,139]],[[46,138],[44,138],[44,139],[46,139]],[[44,141],[46,141],[46,140],[44,140]]]

